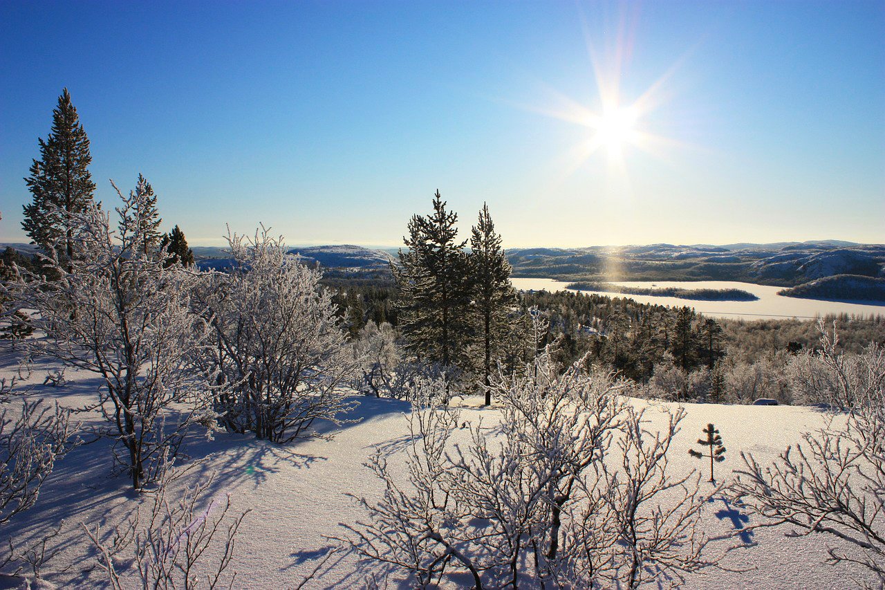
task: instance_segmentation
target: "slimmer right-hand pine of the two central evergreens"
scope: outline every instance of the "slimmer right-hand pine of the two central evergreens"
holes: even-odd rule
[[[486,405],[491,403],[492,358],[497,357],[507,331],[507,313],[516,301],[516,291],[510,283],[512,267],[501,247],[501,236],[495,233],[495,223],[489,215],[489,206],[482,204],[479,223],[473,226],[470,238],[470,271],[473,281],[473,300],[480,319],[483,351],[483,384],[486,386]]]

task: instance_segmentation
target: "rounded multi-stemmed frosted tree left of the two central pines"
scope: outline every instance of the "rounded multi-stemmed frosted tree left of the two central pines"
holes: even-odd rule
[[[232,431],[286,443],[319,436],[318,420],[340,422],[353,407],[344,385],[358,374],[321,273],[262,228],[228,235],[228,273],[206,274],[197,298],[212,314],[215,345],[201,362],[232,389],[216,408]]]

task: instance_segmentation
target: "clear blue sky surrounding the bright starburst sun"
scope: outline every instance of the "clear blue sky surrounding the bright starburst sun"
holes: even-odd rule
[[[399,245],[436,189],[513,246],[885,242],[881,0],[2,0],[0,80],[0,241],[66,86],[191,245]],[[662,140],[587,155],[615,82]]]

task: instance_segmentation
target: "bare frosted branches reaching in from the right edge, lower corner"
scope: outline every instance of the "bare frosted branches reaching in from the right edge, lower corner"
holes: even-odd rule
[[[885,585],[885,349],[875,343],[847,359],[824,332],[822,350],[804,365],[833,389],[826,428],[804,434],[763,466],[741,454],[735,497],[762,516],[756,526],[789,524],[791,536],[823,533],[846,541],[829,563],[856,564]]]

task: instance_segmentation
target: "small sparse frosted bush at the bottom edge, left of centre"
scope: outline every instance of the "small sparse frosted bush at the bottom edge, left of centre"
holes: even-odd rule
[[[236,534],[250,510],[231,513],[229,495],[202,508],[212,480],[185,490],[178,501],[167,497],[168,484],[168,479],[160,483],[143,515],[136,507],[107,532],[100,525],[84,525],[109,586],[114,590],[233,587],[236,572],[228,575],[227,569]]]

